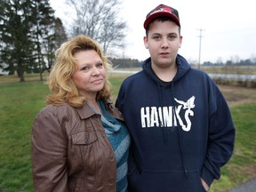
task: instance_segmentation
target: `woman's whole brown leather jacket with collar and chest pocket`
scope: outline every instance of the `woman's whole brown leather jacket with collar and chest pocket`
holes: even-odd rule
[[[124,120],[106,101],[110,114]],[[32,130],[32,173],[36,192],[115,192],[116,157],[101,124],[88,105],[49,105]]]

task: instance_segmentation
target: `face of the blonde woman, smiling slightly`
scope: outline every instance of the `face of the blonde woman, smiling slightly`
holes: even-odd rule
[[[95,100],[97,92],[102,90],[106,80],[106,69],[103,61],[94,50],[76,52],[76,72],[72,79],[81,95],[88,100]]]

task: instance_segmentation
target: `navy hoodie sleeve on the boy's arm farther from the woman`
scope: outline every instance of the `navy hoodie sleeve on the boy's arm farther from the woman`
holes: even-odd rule
[[[220,179],[220,167],[228,163],[235,142],[235,127],[228,103],[217,86],[213,87],[212,95],[214,96],[210,97],[208,148],[201,170],[201,177],[209,186],[214,179]]]

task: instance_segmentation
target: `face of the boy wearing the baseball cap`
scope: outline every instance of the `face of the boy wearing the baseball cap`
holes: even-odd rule
[[[179,26],[170,20],[153,21],[144,36],[144,44],[151,56],[152,65],[160,68],[175,64],[182,43]]]

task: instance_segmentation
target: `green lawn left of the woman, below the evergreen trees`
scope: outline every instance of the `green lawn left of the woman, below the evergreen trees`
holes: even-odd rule
[[[44,107],[45,84],[0,84],[0,191],[33,191],[30,132]]]

